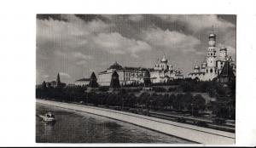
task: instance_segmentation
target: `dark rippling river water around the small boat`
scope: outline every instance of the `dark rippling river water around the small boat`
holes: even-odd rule
[[[37,114],[47,111],[54,112],[56,122],[49,125],[37,117],[38,143],[191,143],[108,117],[37,104]]]

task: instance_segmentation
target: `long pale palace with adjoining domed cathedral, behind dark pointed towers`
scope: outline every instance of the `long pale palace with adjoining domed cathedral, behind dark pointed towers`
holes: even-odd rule
[[[154,65],[154,68],[123,67],[115,62],[113,65],[110,65],[106,71],[102,71],[98,74],[98,83],[101,86],[109,86],[114,71],[119,75],[119,83],[121,86],[144,83],[143,77],[146,71],[150,72],[151,83],[166,83],[169,80],[183,78],[181,71],[178,69],[175,70],[172,65],[168,65],[166,55],[160,60],[160,63]]]

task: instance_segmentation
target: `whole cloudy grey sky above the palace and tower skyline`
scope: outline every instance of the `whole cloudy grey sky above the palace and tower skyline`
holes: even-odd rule
[[[213,27],[212,27],[213,26]],[[37,83],[74,83],[122,66],[153,68],[163,55],[184,77],[207,54],[209,33],[236,60],[236,15],[228,14],[38,14]]]

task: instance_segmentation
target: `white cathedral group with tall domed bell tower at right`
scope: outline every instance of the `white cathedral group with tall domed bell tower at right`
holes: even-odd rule
[[[194,71],[189,73],[189,77],[192,79],[198,78],[200,81],[212,81],[213,78],[218,77],[221,73],[227,60],[229,60],[235,73],[235,61],[232,60],[231,56],[228,56],[227,48],[219,48],[218,56],[216,53],[216,34],[212,31],[209,35],[206,59],[201,63],[201,67],[200,65],[195,65]]]

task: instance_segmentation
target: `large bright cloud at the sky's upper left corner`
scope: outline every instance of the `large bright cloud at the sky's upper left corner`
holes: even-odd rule
[[[71,14],[62,18],[67,21],[37,20],[37,46],[52,43],[54,48],[61,50],[76,49],[86,45],[93,34],[108,31],[113,26],[102,20],[85,22]]]

